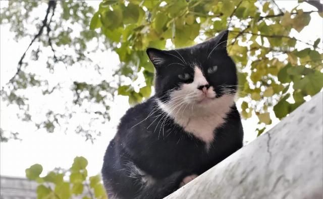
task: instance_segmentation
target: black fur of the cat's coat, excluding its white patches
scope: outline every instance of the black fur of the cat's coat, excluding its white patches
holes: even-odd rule
[[[183,82],[178,78],[183,73],[193,77],[193,69],[180,61],[181,56],[186,62],[202,66],[217,97],[224,94],[217,86],[233,85],[231,89],[237,89],[235,64],[225,47],[227,36],[228,31],[224,31],[201,44],[177,49],[177,52],[147,50],[156,68],[155,95],[126,112],[115,138],[107,147],[102,176],[110,198],[163,198],[179,188],[184,177],[205,172],[242,147],[243,129],[235,105],[227,114],[226,122],[214,129],[215,137],[209,150],[203,141],[185,132],[171,117],[167,117],[164,124],[158,122],[159,118],[155,120],[159,114],[165,115],[163,110],[152,112],[157,107],[156,99],[167,101],[169,90],[192,81]],[[154,59],[156,57],[166,61],[159,63]],[[212,65],[218,65],[218,71],[208,75],[207,69]],[[164,135],[160,134],[162,125],[165,125]],[[134,165],[143,172],[135,172]],[[145,181],[151,178],[152,182]]]

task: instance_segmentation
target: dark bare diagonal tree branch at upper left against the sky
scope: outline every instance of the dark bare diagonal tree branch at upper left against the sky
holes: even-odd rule
[[[26,53],[28,51],[28,49],[30,48],[30,46],[34,43],[34,41],[39,38],[39,36],[42,34],[43,32],[43,29],[45,26],[47,26],[47,18],[48,18],[48,14],[50,12],[50,9],[52,9],[53,7],[56,6],[56,1],[55,0],[49,0],[48,1],[48,7],[47,7],[47,10],[46,10],[46,15],[45,15],[45,18],[43,19],[42,21],[42,25],[41,27],[39,28],[39,31],[38,33],[34,36],[34,38],[31,40],[31,42],[29,43],[27,49],[25,50],[25,52],[23,53],[23,55],[21,56],[19,62],[18,62],[18,67],[17,67],[17,72],[15,73],[15,75],[9,80],[9,83],[13,83],[13,81],[15,80],[15,78],[19,75],[19,72],[21,71],[21,67],[22,67],[22,64],[23,64],[23,59],[25,58],[26,56]]]

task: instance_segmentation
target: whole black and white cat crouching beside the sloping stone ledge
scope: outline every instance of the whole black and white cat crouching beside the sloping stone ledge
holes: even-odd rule
[[[228,31],[175,50],[147,49],[155,95],[130,108],[104,156],[109,198],[163,198],[242,147]]]

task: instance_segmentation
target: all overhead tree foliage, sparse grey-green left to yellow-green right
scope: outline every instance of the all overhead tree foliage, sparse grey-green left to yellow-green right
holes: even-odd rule
[[[121,61],[115,71],[115,76],[119,77],[117,82],[73,81],[71,84],[75,96],[72,105],[83,107],[83,102],[100,104],[101,110],[85,108],[84,112],[89,117],[93,117],[91,113],[95,112],[95,117],[100,117],[102,122],[110,117],[109,102],[113,100],[115,91],[119,95],[129,96],[130,104],[138,103],[150,95],[154,68],[145,53],[147,47],[183,47],[229,29],[228,52],[238,67],[239,97],[243,100],[241,114],[244,118],[257,115],[260,135],[274,119],[269,114],[271,110],[281,119],[302,104],[304,97],[313,96],[323,87],[320,39],[302,41],[291,36],[291,31],[301,32],[309,24],[312,13],[322,16],[321,8],[317,7],[319,12],[305,12],[299,8],[301,4],[307,3],[299,1],[299,5],[288,12],[279,8],[275,1],[104,0],[95,12],[85,2],[79,1],[55,4],[53,1],[22,1],[9,2],[9,7],[1,11],[1,23],[11,26],[16,39],[24,36],[36,38],[40,47],[33,49],[32,58],[37,59],[41,51],[49,47],[52,51],[47,65],[50,72],[56,70],[55,65],[59,62],[66,67],[90,63],[89,57],[83,52],[89,50],[87,44],[93,38],[97,38],[97,43],[104,44],[100,45],[101,50],[110,48],[115,51]],[[38,35],[37,32],[28,33],[25,24],[32,21],[30,13],[33,10],[46,8],[46,5],[46,13],[50,14],[48,19],[34,20],[38,31],[42,27],[46,34],[40,32],[38,37],[34,37]],[[79,34],[76,34],[78,36],[71,36],[76,30],[70,25],[81,27]],[[71,54],[63,53],[67,47],[72,50]],[[95,50],[92,49],[93,52]],[[28,73],[28,62],[22,61],[24,56],[18,63],[17,74],[2,88],[1,96],[25,112],[22,119],[31,121],[28,98],[19,95],[18,91],[40,87],[44,95],[51,95],[62,87],[50,88],[46,80]],[[101,69],[98,66],[97,73]],[[134,81],[141,73],[145,86],[139,91],[134,89],[134,85],[123,81],[125,78]],[[102,94],[101,91],[106,93]],[[67,108],[64,113],[50,111],[47,120],[36,123],[38,128],[46,128],[49,132],[54,131],[62,119],[68,120],[76,114],[73,108]],[[83,126],[75,130],[84,132],[90,140],[95,133],[99,135],[98,132],[85,130]]]

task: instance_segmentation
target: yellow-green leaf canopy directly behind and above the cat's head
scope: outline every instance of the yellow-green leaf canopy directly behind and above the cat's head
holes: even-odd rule
[[[302,104],[305,96],[323,87],[320,39],[308,43],[289,36],[292,29],[300,32],[309,24],[310,13],[298,6],[291,12],[282,11],[274,1],[105,0],[90,28],[100,28],[109,39],[124,63],[121,75],[128,75],[122,71],[135,72],[133,65],[137,71],[144,68],[148,87],[152,86],[153,67],[145,54],[147,47],[163,49],[167,40],[172,41],[171,47],[183,47],[199,36],[231,30],[228,52],[239,69],[242,116],[248,118],[254,112],[259,123],[271,124],[268,108],[274,107],[281,119]],[[299,50],[297,45],[303,43],[309,47]],[[137,93],[130,86],[119,87],[118,93],[129,96],[130,103],[149,96],[149,91]],[[294,103],[286,101],[289,96]]]

